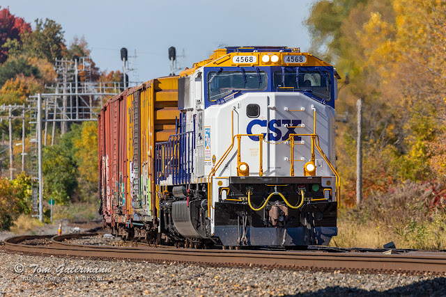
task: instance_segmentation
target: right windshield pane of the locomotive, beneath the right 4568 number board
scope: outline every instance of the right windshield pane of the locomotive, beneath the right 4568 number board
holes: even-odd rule
[[[298,80],[296,76],[298,74]],[[330,100],[330,74],[328,72],[317,71],[276,71],[274,72],[274,86],[277,90],[309,90],[324,100]]]

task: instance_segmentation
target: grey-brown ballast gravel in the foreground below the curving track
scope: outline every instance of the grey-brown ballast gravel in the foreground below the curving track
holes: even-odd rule
[[[201,267],[0,250],[2,296],[444,296],[445,287],[446,278],[433,275]]]

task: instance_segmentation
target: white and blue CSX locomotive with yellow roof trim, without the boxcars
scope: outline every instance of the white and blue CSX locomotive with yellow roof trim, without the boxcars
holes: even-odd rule
[[[337,79],[288,47],[217,49],[180,72],[179,129],[155,148],[160,234],[189,246],[328,245]]]

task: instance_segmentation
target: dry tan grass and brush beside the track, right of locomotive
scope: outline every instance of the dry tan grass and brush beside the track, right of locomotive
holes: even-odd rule
[[[397,248],[445,250],[445,222],[445,199],[431,184],[406,182],[360,207],[339,209],[338,235],[330,246],[383,248],[393,241]]]

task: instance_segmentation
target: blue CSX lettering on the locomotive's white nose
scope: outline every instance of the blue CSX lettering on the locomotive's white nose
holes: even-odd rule
[[[268,133],[268,138],[270,141],[286,141],[290,134],[295,134],[295,127],[300,125],[302,121],[301,120],[270,120],[268,122],[267,120],[252,120],[249,122],[249,124],[246,127],[246,133],[247,134],[257,134],[252,133],[252,128],[256,125],[259,125],[260,127],[268,127],[268,129],[271,131]],[[267,125],[268,124],[268,125]],[[279,127],[282,127],[282,125],[287,129],[286,133],[282,136],[282,130],[279,129]],[[288,126],[288,127],[286,127]],[[266,133],[263,133],[263,137],[266,137]],[[256,136],[249,136],[253,141],[259,141],[259,137]],[[300,137],[296,136],[294,138],[296,141],[300,141]]]

